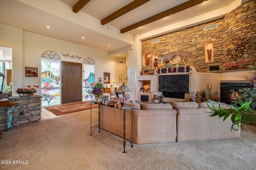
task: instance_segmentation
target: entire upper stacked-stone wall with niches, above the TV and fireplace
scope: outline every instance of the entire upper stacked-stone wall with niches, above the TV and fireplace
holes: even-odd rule
[[[204,26],[216,23],[218,24],[217,28],[204,31]],[[235,38],[236,34],[242,35],[244,33],[252,36],[248,45],[249,51],[244,54],[244,57],[237,59],[237,61],[223,57],[225,53],[223,42]],[[158,43],[151,43],[152,40],[158,38]],[[210,63],[205,62],[204,48],[207,40],[213,42],[214,61]],[[157,68],[169,67],[168,64],[161,63],[161,57],[178,50],[192,52],[192,60],[180,62],[179,65],[194,66],[196,69],[203,69],[204,72],[210,72],[210,66],[222,67],[224,63],[238,63],[242,60],[246,60],[246,67],[251,67],[256,62],[256,0],[239,6],[222,19],[142,41],[142,71],[148,70],[154,73]],[[150,64],[147,66],[143,65],[144,53],[150,53]],[[153,55],[155,54],[158,56],[158,67],[153,67]]]

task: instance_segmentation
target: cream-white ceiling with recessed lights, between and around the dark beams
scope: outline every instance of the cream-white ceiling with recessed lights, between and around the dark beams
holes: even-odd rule
[[[90,0],[78,13],[74,13],[72,12],[72,6],[77,1],[0,0],[0,23],[43,36],[109,51],[115,57],[126,57],[126,51],[133,43],[133,35],[144,35],[144,39],[153,37],[155,36],[154,34],[161,34],[159,30],[161,28],[193,17],[196,18],[196,16],[207,12],[223,9],[224,13],[220,12],[221,14],[217,15],[220,18],[232,8],[249,0],[208,0],[123,34],[120,33],[122,28],[188,0],[150,0],[104,26],[100,24],[100,20],[129,4],[132,0]],[[214,13],[212,13],[212,18],[211,15],[207,16],[208,21],[214,19],[216,19],[216,14]],[[206,19],[200,21],[190,20],[190,26],[205,21]],[[46,25],[50,26],[51,29],[46,29]],[[177,29],[179,29],[178,26]],[[154,33],[154,30],[159,31]],[[168,31],[172,30],[169,29]],[[164,33],[168,31],[165,30]],[[82,36],[84,36],[84,39],[81,38]]]

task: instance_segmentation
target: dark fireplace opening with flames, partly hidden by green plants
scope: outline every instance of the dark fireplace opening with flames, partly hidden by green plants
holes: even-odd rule
[[[238,89],[243,89],[244,87],[252,86],[250,86],[250,83],[220,83],[220,102],[231,104],[235,99],[231,90],[238,91]]]

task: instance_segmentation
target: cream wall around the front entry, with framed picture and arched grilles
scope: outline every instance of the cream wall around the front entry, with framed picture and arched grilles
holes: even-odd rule
[[[118,65],[116,57],[108,56],[108,51],[94,49],[78,45],[75,43],[65,42],[39,34],[26,32],[18,28],[0,24],[0,46],[12,48],[12,84],[13,91],[15,88],[26,87],[27,85],[41,84],[40,75],[38,77],[25,77],[25,67],[38,67],[40,73],[41,55],[44,51],[52,50],[58,53],[61,61],[82,63],[85,57],[91,57],[95,61],[95,80],[98,77],[104,77],[103,73],[110,73],[110,79],[118,82],[118,75],[122,73],[126,76],[126,60],[124,64]],[[71,59],[62,56],[64,54],[78,55],[82,59]],[[118,86],[122,83],[117,83]],[[13,96],[18,96],[12,93]],[[40,90],[36,95],[41,95]]]

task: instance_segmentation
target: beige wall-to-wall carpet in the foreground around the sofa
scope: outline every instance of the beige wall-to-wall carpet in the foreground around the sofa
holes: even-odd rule
[[[92,124],[98,109],[92,109]],[[90,136],[90,110],[20,125],[1,132],[0,164],[3,170],[254,170],[256,133],[239,139],[126,144],[122,138],[98,128]],[[12,164],[14,160],[28,164]]]

